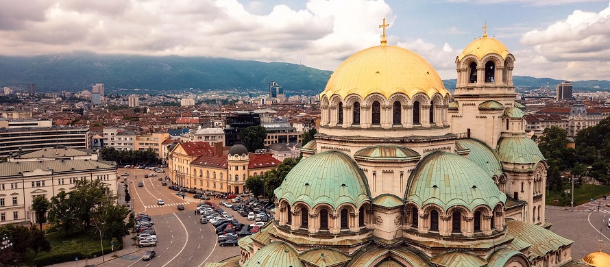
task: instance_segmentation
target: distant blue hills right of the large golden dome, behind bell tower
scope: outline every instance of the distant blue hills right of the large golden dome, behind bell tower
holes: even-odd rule
[[[540,86],[546,87],[546,83],[548,82],[548,86],[553,90],[557,84],[563,82],[565,80],[559,79],[551,79],[551,78],[535,78],[530,76],[513,76],[513,84],[515,87],[520,88],[540,88]],[[443,80],[443,84],[445,84],[445,88],[453,91],[455,88],[457,80],[456,79],[445,79]],[[607,91],[610,90],[610,81],[570,81],[574,86],[574,90],[579,91]]]

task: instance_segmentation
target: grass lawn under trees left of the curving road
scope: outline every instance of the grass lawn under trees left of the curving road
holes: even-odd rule
[[[74,260],[73,255],[82,255],[79,257],[80,260],[84,260],[84,256],[88,257],[99,257],[101,256],[101,246],[99,243],[99,233],[95,229],[89,229],[88,233],[77,234],[69,238],[64,237],[62,233],[48,233],[47,240],[51,243],[50,252],[40,252],[36,255],[36,259],[43,257],[53,258],[70,258],[67,260]],[[110,240],[102,240],[104,254],[108,254],[112,251],[110,246]],[[119,244],[120,245],[120,244]],[[114,244],[114,249],[117,249],[117,244]],[[27,253],[25,264],[32,266],[34,259],[34,253]]]

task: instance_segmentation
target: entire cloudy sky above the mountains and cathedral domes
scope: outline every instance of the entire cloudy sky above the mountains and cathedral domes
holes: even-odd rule
[[[610,80],[609,0],[28,0],[0,1],[0,55],[93,51],[290,62],[334,71],[388,44],[442,79],[487,35],[515,56],[513,75]]]

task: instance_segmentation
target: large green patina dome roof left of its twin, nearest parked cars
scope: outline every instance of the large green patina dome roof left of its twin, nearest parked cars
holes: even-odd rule
[[[317,153],[301,160],[275,190],[278,199],[291,205],[304,202],[309,207],[326,203],[358,207],[371,199],[367,178],[349,155],[339,151]]]

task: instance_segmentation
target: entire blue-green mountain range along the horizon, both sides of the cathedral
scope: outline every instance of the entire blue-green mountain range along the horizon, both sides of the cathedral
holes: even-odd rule
[[[195,88],[266,92],[269,81],[277,81],[286,94],[319,94],[331,71],[300,64],[258,62],[226,58],[105,55],[74,52],[53,55],[0,56],[0,86],[36,84],[38,90],[90,90],[95,83],[107,88],[142,88],[152,92]],[[514,76],[521,88],[551,89],[563,80]],[[452,90],[456,79],[443,80]],[[572,81],[574,90],[610,90],[610,81]]]

